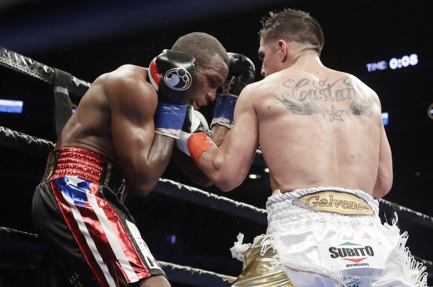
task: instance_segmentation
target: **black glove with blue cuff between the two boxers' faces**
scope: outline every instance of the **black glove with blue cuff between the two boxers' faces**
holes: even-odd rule
[[[233,114],[236,101],[242,89],[254,82],[255,67],[252,61],[241,54],[228,53],[230,60],[229,76],[216,95],[215,110],[210,127],[220,124],[233,127]]]

